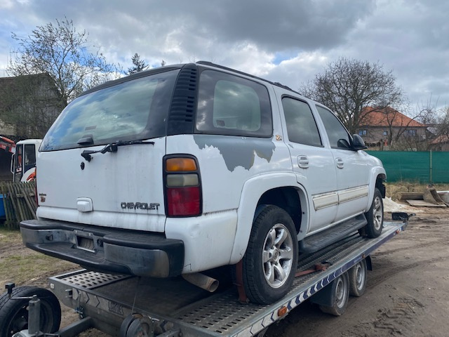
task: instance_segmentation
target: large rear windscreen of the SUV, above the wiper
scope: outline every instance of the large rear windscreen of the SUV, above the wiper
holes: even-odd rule
[[[164,136],[179,70],[125,81],[76,98],[46,134],[41,151],[80,147],[81,138],[105,145]]]

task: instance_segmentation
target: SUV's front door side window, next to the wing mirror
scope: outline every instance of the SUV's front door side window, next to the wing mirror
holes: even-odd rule
[[[340,119],[330,110],[318,105],[316,106],[316,110],[318,110],[326,132],[328,133],[330,147],[333,149],[349,149],[351,146],[351,138],[349,138],[349,133],[344,128]]]

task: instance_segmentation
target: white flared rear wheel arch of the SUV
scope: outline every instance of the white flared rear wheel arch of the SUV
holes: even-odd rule
[[[297,233],[300,232],[301,225],[308,221],[307,197],[293,173],[272,173],[247,180],[243,185],[237,210],[237,228],[230,264],[238,263],[243,258],[253,220],[264,205],[268,204],[284,209],[295,223]],[[294,213],[296,207],[301,209],[297,216]]]

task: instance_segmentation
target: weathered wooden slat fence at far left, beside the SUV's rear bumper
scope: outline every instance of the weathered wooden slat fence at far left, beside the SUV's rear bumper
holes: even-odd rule
[[[36,184],[0,182],[5,207],[5,227],[17,229],[22,220],[36,218]]]

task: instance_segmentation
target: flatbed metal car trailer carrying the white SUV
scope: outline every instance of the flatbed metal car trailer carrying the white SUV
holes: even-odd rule
[[[182,277],[146,279],[78,270],[51,277],[51,291],[7,284],[0,297],[0,337],[72,337],[92,327],[121,337],[261,337],[307,299],[323,312],[342,315],[349,294],[365,291],[370,254],[405,230],[409,217],[393,213],[401,221],[385,222],[375,239],[354,233],[302,254],[292,288],[271,305],[242,303],[236,286],[209,293]],[[79,321],[60,329],[58,299],[78,312]]]

